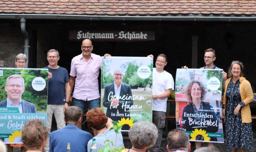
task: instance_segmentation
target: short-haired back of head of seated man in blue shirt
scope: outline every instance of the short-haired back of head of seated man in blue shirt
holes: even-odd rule
[[[64,116],[67,124],[76,124],[82,117],[82,110],[76,106],[69,106],[65,110]]]

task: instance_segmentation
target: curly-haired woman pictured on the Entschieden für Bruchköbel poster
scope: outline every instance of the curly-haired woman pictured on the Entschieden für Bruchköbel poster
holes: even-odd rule
[[[185,94],[190,104],[184,107],[182,112],[183,126],[186,131],[194,131],[195,129],[205,130],[206,132],[217,132],[219,130],[219,122],[214,109],[208,103],[203,102],[207,88],[202,82],[192,81],[187,86]],[[196,140],[204,140],[204,137],[197,136]],[[216,137],[210,137],[210,141],[217,141]],[[196,142],[197,143],[197,142]],[[200,148],[201,142],[196,146]]]

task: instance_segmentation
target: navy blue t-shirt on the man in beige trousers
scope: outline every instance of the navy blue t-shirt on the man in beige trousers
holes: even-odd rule
[[[65,68],[48,69],[52,73],[52,78],[48,79],[48,100],[47,104],[65,104],[65,83],[69,82],[68,71]]]

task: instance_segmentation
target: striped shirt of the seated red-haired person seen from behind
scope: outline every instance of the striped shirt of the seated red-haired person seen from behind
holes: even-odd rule
[[[116,132],[115,132],[114,129],[112,129],[112,130],[110,130],[110,131],[109,131],[109,129],[107,129],[107,130],[104,131],[103,133],[100,133],[99,135],[93,137],[93,138],[95,139],[97,151],[99,150],[99,148],[100,148],[100,150],[101,150],[101,148],[104,148],[104,146],[105,146],[106,144],[108,144],[108,142],[105,142],[105,143],[104,143],[104,141],[107,140],[107,139],[108,139],[108,140],[111,140],[111,141],[113,142],[113,146],[112,146],[112,144],[109,142],[110,149],[112,149],[112,150],[113,150],[114,147],[115,147],[115,143],[116,143],[116,147],[117,147],[117,148],[120,148],[120,147],[124,146],[122,133],[121,133],[121,131],[120,131],[119,129],[118,129],[118,132],[119,132],[119,134],[117,134],[117,136],[116,136]],[[105,136],[104,134],[105,134],[106,136]],[[92,139],[91,139],[91,140],[88,142],[88,144],[87,144],[87,151],[88,151],[88,152],[90,151],[91,146],[92,146]]]

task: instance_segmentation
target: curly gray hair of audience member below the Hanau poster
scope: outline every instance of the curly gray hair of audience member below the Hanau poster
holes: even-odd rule
[[[152,147],[158,137],[156,126],[148,121],[136,122],[129,131],[129,138],[136,149]]]

